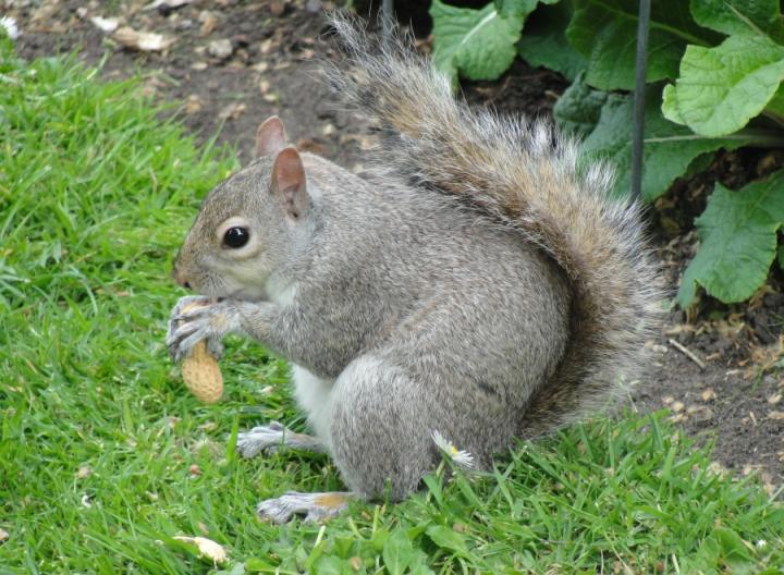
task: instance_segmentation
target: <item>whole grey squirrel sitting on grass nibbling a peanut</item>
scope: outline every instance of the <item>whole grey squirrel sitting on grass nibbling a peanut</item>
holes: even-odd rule
[[[328,77],[384,134],[371,175],[299,154],[271,118],[174,266],[201,294],[172,311],[175,359],[233,332],[293,364],[315,437],[273,423],[240,453],[323,450],[351,489],[262,502],[277,522],[404,498],[440,460],[433,432],[489,467],[607,402],[659,317],[639,208],[608,196],[608,166],[578,170],[544,123],[469,109],[405,41],[332,25],[344,59]],[[208,305],[183,313],[194,299]]]

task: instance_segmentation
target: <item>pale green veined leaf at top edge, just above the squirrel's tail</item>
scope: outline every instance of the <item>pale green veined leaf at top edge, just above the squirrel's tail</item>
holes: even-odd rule
[[[455,78],[495,79],[514,61],[523,16],[502,17],[490,3],[481,10],[455,8],[433,0],[433,63]]]

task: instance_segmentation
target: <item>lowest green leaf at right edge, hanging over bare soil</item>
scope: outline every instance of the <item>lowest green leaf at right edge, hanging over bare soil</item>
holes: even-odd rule
[[[716,184],[696,221],[700,247],[681,280],[681,307],[691,304],[697,284],[727,304],[751,297],[768,277],[782,222],[784,171],[737,192]]]

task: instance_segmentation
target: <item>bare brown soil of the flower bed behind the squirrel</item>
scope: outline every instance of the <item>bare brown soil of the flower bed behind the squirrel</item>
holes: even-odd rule
[[[315,78],[314,57],[334,57],[321,16],[323,8],[331,8],[328,2],[156,3],[0,0],[0,15],[17,20],[23,57],[76,52],[90,64],[106,58],[107,79],[140,75],[148,94],[176,102],[172,113],[199,140],[218,134],[219,143],[236,146],[243,162],[250,158],[256,126],[278,114],[301,149],[362,172],[370,142],[364,124],[336,111],[327,86]],[[417,32],[427,33],[422,12],[399,12],[399,19],[413,17]],[[101,30],[99,24],[111,23],[91,20],[96,16],[115,19],[120,28],[161,34],[163,44],[171,42],[161,51],[130,49],[118,32]],[[566,86],[558,74],[517,62],[498,82],[467,85],[464,91],[475,106],[534,117],[550,114]],[[651,210],[651,234],[673,290],[694,253],[694,217],[712,183],[734,187],[782,160],[770,150],[720,156],[708,173],[681,183]],[[654,368],[629,397],[640,412],[669,408],[687,432],[715,441],[720,465],[742,475],[759,472],[771,491],[784,479],[784,379],[774,365],[784,342],[782,284],[781,274],[773,274],[750,304],[703,304],[696,318],[688,318],[691,322],[683,311],[673,313],[661,338],[650,342]]]

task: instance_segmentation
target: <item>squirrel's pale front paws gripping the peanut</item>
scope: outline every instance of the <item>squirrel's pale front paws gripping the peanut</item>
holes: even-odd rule
[[[174,362],[180,362],[194,345],[206,340],[210,354],[218,358],[223,353],[223,337],[233,331],[240,331],[240,313],[234,303],[188,295],[172,309],[166,344]]]

